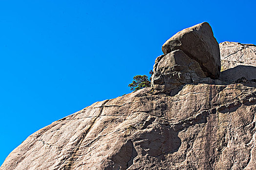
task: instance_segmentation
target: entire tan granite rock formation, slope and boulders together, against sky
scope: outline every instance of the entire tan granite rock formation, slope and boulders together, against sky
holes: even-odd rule
[[[242,73],[225,79],[239,67],[226,64],[217,79],[220,55],[210,28],[198,24],[164,44],[152,87],[53,122],[22,142],[0,170],[255,170],[255,82]],[[222,61],[244,62],[252,71],[254,48],[221,43]],[[233,51],[241,56],[230,57],[239,54]]]

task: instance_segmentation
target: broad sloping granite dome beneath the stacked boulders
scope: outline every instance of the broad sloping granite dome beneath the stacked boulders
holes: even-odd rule
[[[0,170],[253,170],[256,88],[148,87],[85,109],[29,136]]]

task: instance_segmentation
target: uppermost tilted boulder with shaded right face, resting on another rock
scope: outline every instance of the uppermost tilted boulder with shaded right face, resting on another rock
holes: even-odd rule
[[[203,22],[176,33],[162,47],[165,55],[175,50],[182,50],[197,61],[207,77],[219,77],[219,44],[209,23]]]

